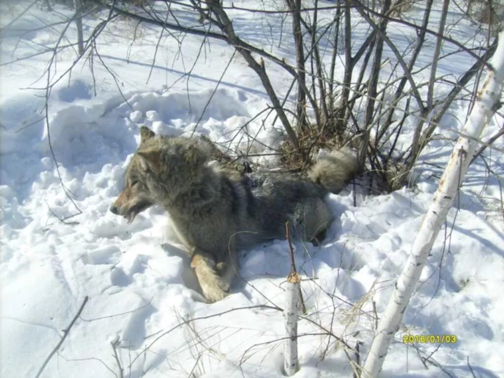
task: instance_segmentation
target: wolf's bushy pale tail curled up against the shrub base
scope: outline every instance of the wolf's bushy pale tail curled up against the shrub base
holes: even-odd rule
[[[308,171],[308,177],[328,192],[338,193],[357,173],[357,169],[357,157],[344,147],[319,158]]]

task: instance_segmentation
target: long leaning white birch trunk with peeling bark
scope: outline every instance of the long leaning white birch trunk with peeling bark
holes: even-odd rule
[[[462,135],[479,138],[485,124],[495,111],[500,100],[504,79],[504,32],[499,35],[498,45],[492,59],[494,71],[488,71],[483,88],[478,92],[474,108],[467,119]],[[413,244],[406,265],[396,282],[394,292],[376,329],[367,355],[362,377],[376,377],[382,370],[390,342],[399,329],[401,320],[415,289],[432,244],[452,206],[462,178],[474,155],[477,142],[461,136],[453,150],[439,181],[439,186]]]

